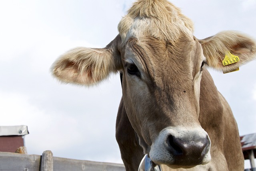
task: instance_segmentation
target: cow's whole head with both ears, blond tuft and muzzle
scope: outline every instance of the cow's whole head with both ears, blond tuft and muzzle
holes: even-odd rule
[[[79,47],[62,55],[54,76],[94,85],[121,72],[125,110],[144,153],[159,164],[208,163],[211,142],[198,121],[203,66],[233,71],[252,60],[254,41],[234,31],[198,40],[192,22],[166,0],[136,2],[118,30],[105,48]],[[227,53],[240,61],[224,66]]]

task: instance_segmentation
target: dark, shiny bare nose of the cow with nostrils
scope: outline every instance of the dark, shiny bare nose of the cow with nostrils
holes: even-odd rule
[[[210,145],[208,136],[201,137],[194,135],[193,137],[176,138],[169,135],[167,138],[168,151],[172,153],[177,160],[186,160],[190,165],[198,164],[205,155],[205,148]],[[186,163],[188,164],[188,163]]]

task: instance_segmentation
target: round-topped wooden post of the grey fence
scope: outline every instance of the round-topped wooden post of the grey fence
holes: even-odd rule
[[[44,151],[42,154],[40,171],[53,171],[52,151]]]

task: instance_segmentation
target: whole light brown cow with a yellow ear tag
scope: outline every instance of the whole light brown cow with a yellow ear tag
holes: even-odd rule
[[[256,43],[237,31],[205,39],[167,0],[138,0],[105,48],[77,47],[52,74],[64,83],[95,85],[120,73],[116,140],[127,171],[145,154],[162,170],[242,171],[244,158],[230,106],[207,67],[232,72],[253,60]]]

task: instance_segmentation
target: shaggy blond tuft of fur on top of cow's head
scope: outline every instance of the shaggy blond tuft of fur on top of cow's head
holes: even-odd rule
[[[192,36],[193,24],[167,0],[138,0],[120,21],[118,31],[123,41],[139,34],[175,40],[181,32]]]

